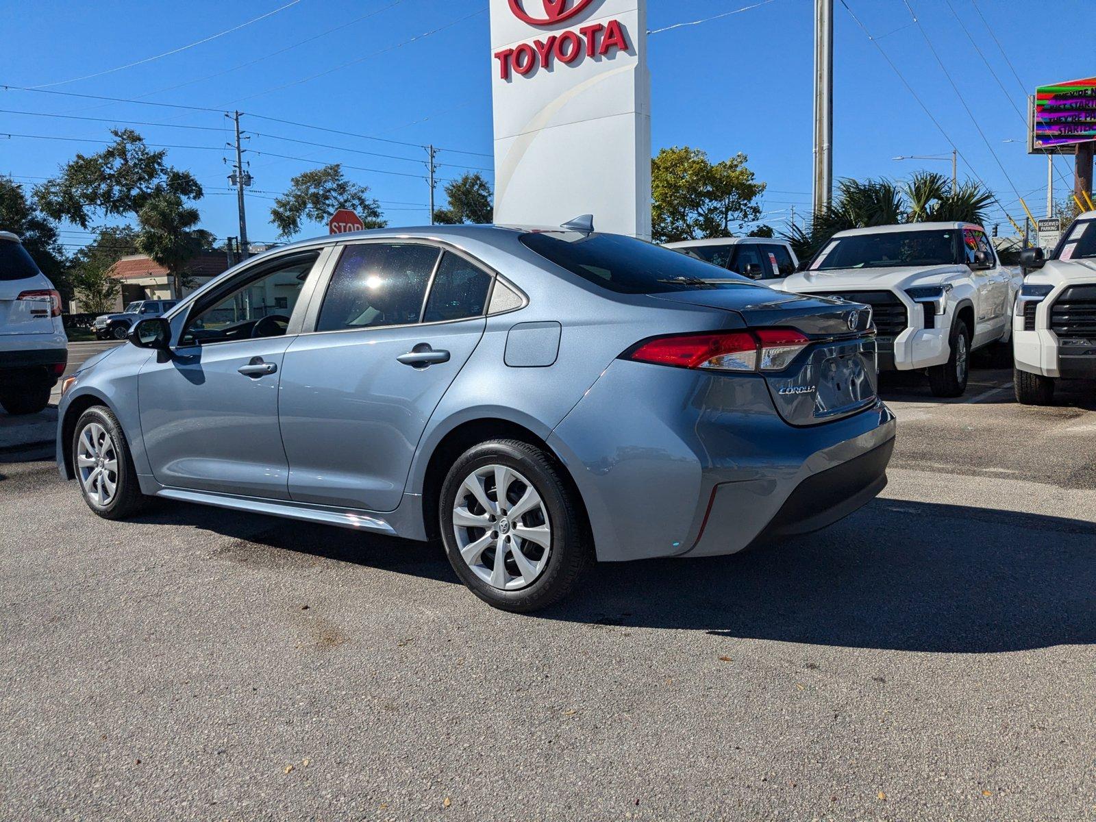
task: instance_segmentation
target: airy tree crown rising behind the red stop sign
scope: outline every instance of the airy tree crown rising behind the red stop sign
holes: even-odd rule
[[[324,224],[340,208],[355,212],[366,228],[388,225],[381,217],[380,204],[369,196],[369,187],[347,180],[339,163],[293,178],[289,191],[274,201],[271,220],[278,228],[278,237],[289,238],[300,231],[301,220]]]

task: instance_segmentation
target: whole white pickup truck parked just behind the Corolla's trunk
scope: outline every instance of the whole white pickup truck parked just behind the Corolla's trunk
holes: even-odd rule
[[[1021,283],[981,226],[911,222],[838,231],[807,271],[773,287],[868,304],[880,370],[923,369],[935,396],[959,397],[972,351],[1007,353]]]

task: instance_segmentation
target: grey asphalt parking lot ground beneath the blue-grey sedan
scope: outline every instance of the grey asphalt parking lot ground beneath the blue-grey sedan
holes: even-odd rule
[[[1096,818],[1096,386],[890,379],[882,496],[534,616],[439,549],[0,453],[0,818]]]

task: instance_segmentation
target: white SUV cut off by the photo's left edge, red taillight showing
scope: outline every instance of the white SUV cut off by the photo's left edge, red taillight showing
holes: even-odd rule
[[[0,231],[0,406],[33,414],[65,372],[61,297],[19,238]]]

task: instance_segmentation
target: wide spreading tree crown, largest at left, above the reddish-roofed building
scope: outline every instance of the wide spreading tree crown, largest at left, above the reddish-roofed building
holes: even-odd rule
[[[202,186],[189,171],[164,162],[167,151],[153,151],[129,128],[111,129],[114,142],[95,155],[78,153],[60,173],[35,189],[42,210],[55,220],[87,228],[92,217],[136,215],[160,195],[201,199]]]

